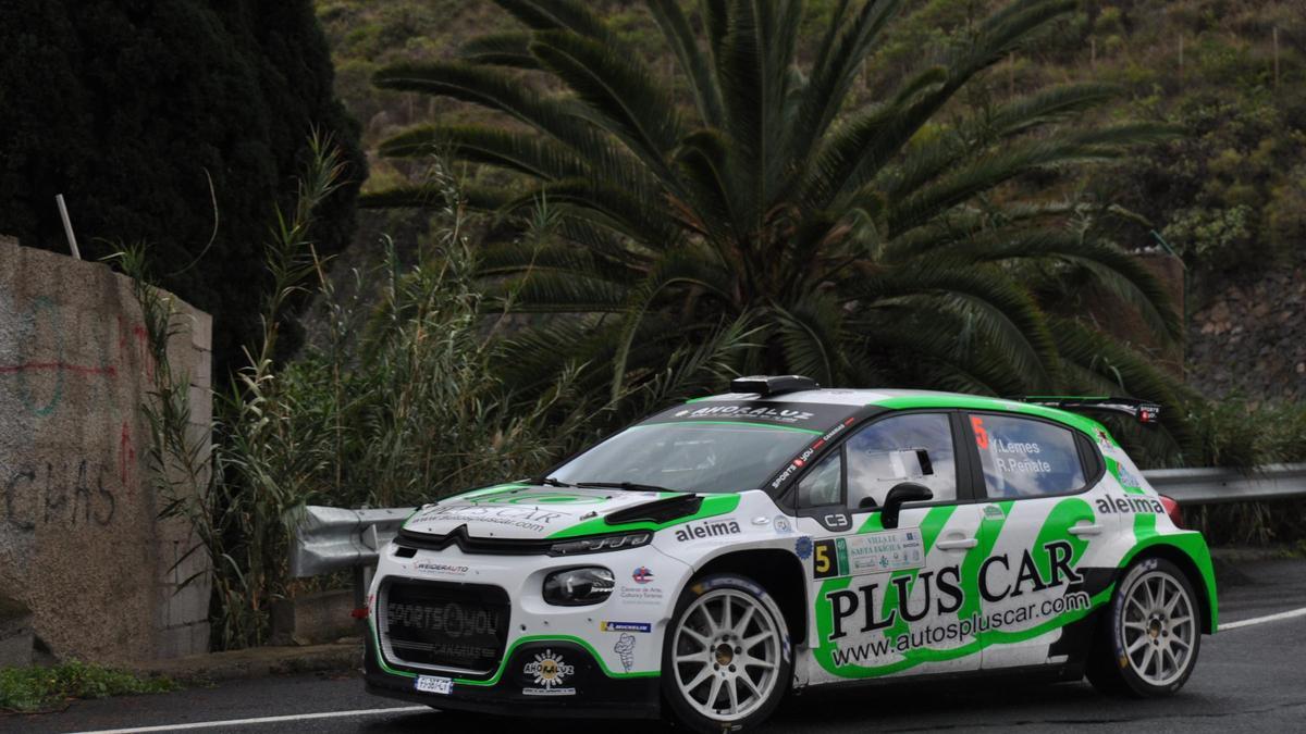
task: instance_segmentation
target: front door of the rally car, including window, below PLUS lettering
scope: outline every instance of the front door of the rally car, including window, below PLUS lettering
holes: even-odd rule
[[[811,683],[980,667],[961,573],[982,511],[961,435],[949,411],[883,417],[798,482],[799,528],[812,535]],[[885,500],[904,482],[934,496],[893,524]]]

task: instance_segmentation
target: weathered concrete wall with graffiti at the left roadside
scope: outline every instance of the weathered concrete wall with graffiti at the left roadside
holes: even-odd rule
[[[212,319],[180,311],[170,362],[206,440]],[[208,649],[209,584],[178,590],[204,554],[176,564],[193,533],[158,519],[144,477],[153,370],[128,278],[0,238],[0,594],[31,609],[57,657]]]

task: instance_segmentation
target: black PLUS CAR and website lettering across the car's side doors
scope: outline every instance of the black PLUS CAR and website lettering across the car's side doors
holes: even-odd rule
[[[989,603],[1019,598],[1029,592],[1042,592],[1081,581],[1071,568],[1074,549],[1066,541],[1053,541],[1041,549],[1047,560],[1049,573],[1042,576],[1030,551],[1023,551],[1015,563],[1007,555],[995,555],[980,566],[976,590]],[[1015,573],[1015,577],[1012,577]],[[882,611],[888,588],[896,590],[897,605]],[[922,589],[919,601],[912,601],[912,590]],[[832,618],[827,643],[849,635],[885,631],[901,622],[921,622],[931,616],[956,614],[966,603],[966,589],[961,582],[959,566],[948,566],[938,572],[922,571],[916,579],[897,576],[887,584],[880,580],[865,582],[855,589],[836,589],[825,593]],[[855,665],[891,653],[905,653],[929,645],[939,645],[970,637],[980,632],[1021,626],[1040,618],[1067,611],[1085,610],[1091,598],[1084,592],[1074,592],[1057,598],[1042,598],[1025,605],[1008,605],[991,613],[974,613],[969,618],[947,623],[927,624],[897,636],[885,636],[865,644],[832,650],[836,666]]]

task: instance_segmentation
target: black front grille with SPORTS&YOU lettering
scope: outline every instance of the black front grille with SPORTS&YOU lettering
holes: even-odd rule
[[[499,586],[393,580],[377,605],[381,648],[400,665],[488,675],[508,640],[508,593]]]

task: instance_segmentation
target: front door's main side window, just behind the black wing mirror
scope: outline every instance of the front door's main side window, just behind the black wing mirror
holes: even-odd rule
[[[848,507],[883,507],[902,482],[925,485],[935,502],[957,498],[952,424],[946,413],[909,413],[876,421],[848,439]]]

